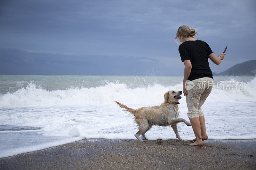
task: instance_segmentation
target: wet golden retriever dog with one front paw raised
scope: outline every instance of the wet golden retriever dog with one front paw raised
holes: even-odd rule
[[[140,138],[140,135],[146,139],[145,133],[152,128],[153,125],[171,125],[176,137],[181,141],[177,129],[177,123],[184,122],[187,126],[191,126],[190,122],[183,118],[178,118],[179,107],[177,103],[179,103],[179,100],[181,99],[181,94],[182,91],[176,92],[174,90],[170,90],[164,94],[164,103],[162,103],[160,106],[141,107],[137,110],[127,107],[117,101],[115,102],[121,108],[124,108],[124,111],[130,112],[132,115],[134,115],[134,121],[139,126],[139,131],[134,136],[138,140],[145,141]]]

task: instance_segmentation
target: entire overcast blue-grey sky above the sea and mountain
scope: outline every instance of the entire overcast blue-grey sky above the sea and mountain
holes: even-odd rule
[[[183,75],[177,29],[196,29],[220,73],[256,59],[255,0],[0,1],[0,74]]]

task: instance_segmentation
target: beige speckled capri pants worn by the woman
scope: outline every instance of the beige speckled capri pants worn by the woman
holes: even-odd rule
[[[204,115],[201,107],[212,91],[213,79],[209,77],[203,77],[192,80],[192,82],[194,83],[194,88],[188,88],[188,96],[186,96],[188,118]]]

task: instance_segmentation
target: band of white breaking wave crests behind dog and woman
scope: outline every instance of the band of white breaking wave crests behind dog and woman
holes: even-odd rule
[[[225,83],[228,83],[228,81]],[[137,88],[130,88],[122,83],[110,82],[106,85],[91,88],[72,87],[66,90],[47,91],[30,83],[16,92],[7,92],[0,96],[0,108],[110,104],[115,100],[127,104],[154,104],[161,102],[163,94],[168,90],[180,91],[182,89],[182,82],[169,86],[156,83]],[[255,102],[256,79],[244,83],[242,89],[218,89],[215,85],[209,100],[218,101],[220,99],[230,102]]]

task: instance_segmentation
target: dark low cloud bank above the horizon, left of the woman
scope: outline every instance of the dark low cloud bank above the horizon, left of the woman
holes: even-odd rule
[[[0,48],[0,63],[0,74],[168,75],[169,70],[147,57],[63,55],[9,48]]]

